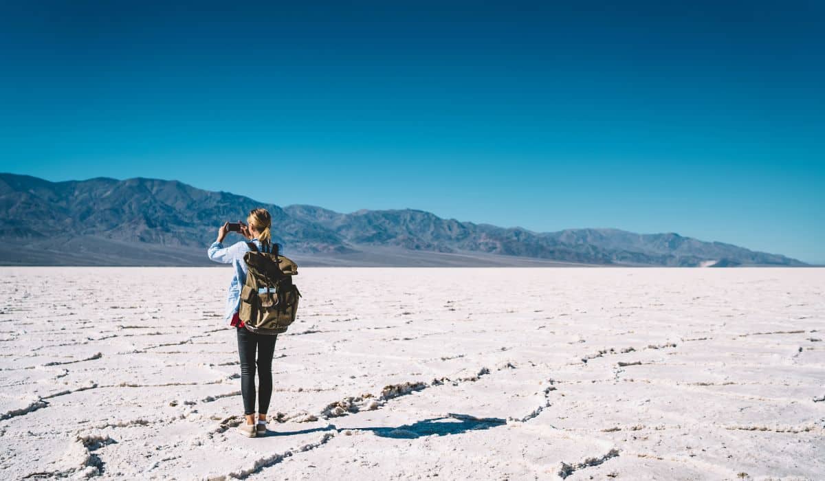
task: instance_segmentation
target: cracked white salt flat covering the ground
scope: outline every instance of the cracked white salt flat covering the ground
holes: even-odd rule
[[[303,269],[262,438],[229,267],[0,274],[2,479],[825,479],[823,269]]]

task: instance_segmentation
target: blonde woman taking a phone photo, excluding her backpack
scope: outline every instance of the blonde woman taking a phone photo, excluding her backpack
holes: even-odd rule
[[[241,222],[241,232],[247,241],[234,243],[224,248],[224,238],[229,233],[229,222],[218,229],[218,240],[209,248],[209,258],[214,262],[232,264],[234,276],[229,284],[224,322],[234,326],[238,334],[238,356],[241,360],[241,394],[243,394],[243,414],[245,421],[238,426],[238,431],[244,436],[255,437],[266,435],[266,410],[272,397],[272,355],[275,353],[277,335],[257,334],[250,332],[238,318],[238,307],[241,303],[241,288],[247,278],[247,264],[243,255],[251,249],[247,242],[255,244],[262,252],[271,252],[271,217],[266,209],[253,209],[247,217],[247,224]],[[280,248],[280,245],[279,245]],[[280,252],[280,250],[279,250]],[[255,350],[257,348],[257,363]],[[257,364],[258,390],[258,421],[255,422],[255,366]]]

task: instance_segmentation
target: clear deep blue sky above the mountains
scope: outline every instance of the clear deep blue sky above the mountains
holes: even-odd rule
[[[31,3],[0,172],[825,262],[822,2]]]

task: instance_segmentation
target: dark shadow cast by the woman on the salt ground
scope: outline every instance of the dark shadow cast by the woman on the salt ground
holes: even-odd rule
[[[352,427],[353,431],[372,431],[375,436],[415,439],[421,436],[447,436],[461,434],[467,431],[481,431],[507,424],[501,417],[475,417],[467,414],[450,413],[444,417],[424,419],[413,424],[403,424],[398,427]],[[316,427],[301,431],[268,431],[267,436],[295,436],[310,432],[338,431],[335,425]]]

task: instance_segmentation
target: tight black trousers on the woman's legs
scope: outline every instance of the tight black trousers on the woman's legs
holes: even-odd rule
[[[258,414],[266,414],[272,398],[272,356],[275,354],[276,335],[256,334],[247,328],[238,331],[238,354],[241,356],[241,394],[243,413],[255,413],[255,366],[258,371]],[[257,347],[257,362],[255,349]]]

